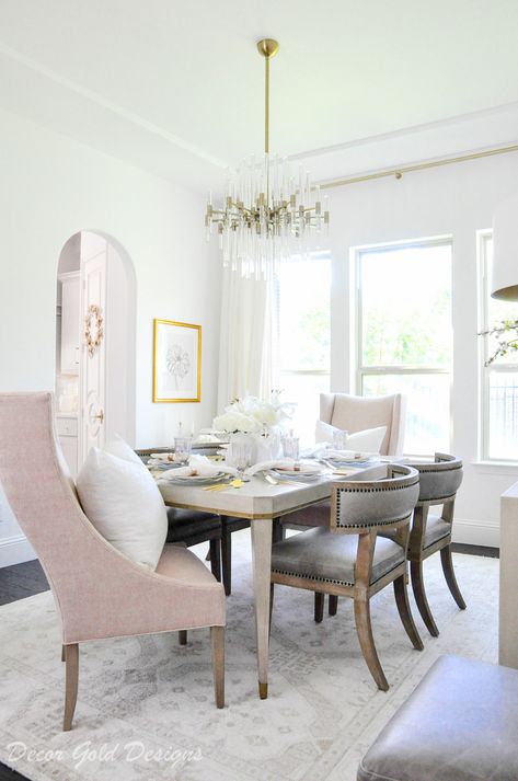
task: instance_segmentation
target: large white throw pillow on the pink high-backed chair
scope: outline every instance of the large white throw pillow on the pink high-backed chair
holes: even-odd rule
[[[136,458],[138,462],[92,448],[77,490],[97,531],[128,559],[156,570],[168,535],[168,514],[157,483]]]

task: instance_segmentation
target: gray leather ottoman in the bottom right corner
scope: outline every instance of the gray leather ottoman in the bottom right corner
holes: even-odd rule
[[[518,781],[518,670],[442,656],[377,737],[357,781]]]

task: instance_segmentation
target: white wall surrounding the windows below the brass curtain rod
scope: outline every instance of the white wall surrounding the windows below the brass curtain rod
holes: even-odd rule
[[[444,234],[453,237],[451,447],[462,456],[465,466],[457,504],[456,537],[477,544],[498,544],[499,495],[518,479],[518,468],[477,463],[476,230],[491,228],[495,205],[517,192],[517,153],[406,174],[399,181],[383,179],[330,191],[334,264],[331,387],[334,391],[355,392],[348,351],[350,248]]]

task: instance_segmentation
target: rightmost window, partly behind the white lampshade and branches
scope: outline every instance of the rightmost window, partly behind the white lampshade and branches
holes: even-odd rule
[[[492,329],[498,321],[518,318],[518,303],[491,297],[493,236],[479,233],[481,269],[481,331]],[[487,461],[518,460],[518,355],[510,353],[486,366],[495,353],[494,336],[482,337],[481,456]]]

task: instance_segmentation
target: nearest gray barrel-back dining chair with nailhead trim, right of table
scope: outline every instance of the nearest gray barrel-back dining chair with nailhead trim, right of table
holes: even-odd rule
[[[419,475],[411,467],[385,464],[380,480],[347,480],[332,485],[330,527],[315,528],[272,548],[274,584],[354,599],[355,621],[365,661],[378,687],[387,691],[372,636],[370,599],[393,583],[398,610],[414,648],[423,643],[406,594],[406,543],[419,495]],[[391,529],[398,542],[379,536]]]

